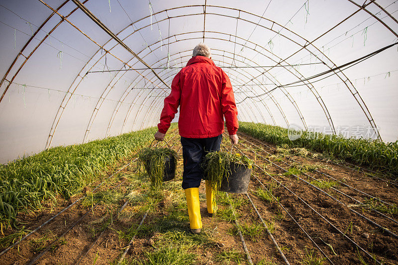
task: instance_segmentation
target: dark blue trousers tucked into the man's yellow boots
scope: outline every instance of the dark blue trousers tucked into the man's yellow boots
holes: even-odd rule
[[[181,136],[184,172],[183,189],[199,188],[203,170],[200,164],[210,151],[219,151],[222,134],[209,138],[186,138]]]

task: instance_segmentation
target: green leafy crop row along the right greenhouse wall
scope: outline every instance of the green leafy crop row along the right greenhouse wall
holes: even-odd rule
[[[398,141],[345,138],[341,135],[313,134],[307,131],[301,132],[301,136],[292,141],[288,138],[288,129],[245,122],[239,123],[239,131],[266,142],[287,144],[292,148],[304,147],[398,176]]]

